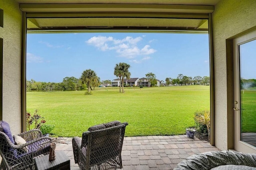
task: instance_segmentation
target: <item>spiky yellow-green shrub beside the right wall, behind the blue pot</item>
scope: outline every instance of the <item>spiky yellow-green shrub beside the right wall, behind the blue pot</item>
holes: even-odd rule
[[[208,134],[210,139],[210,111],[196,111],[194,120],[197,131],[202,134]]]

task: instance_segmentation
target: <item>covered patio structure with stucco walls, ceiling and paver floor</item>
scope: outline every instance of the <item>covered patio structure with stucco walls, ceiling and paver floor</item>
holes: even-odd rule
[[[240,107],[240,96],[236,94],[240,90],[240,74],[233,69],[239,64],[240,45],[256,39],[256,20],[253,20],[256,18],[255,1],[112,0],[108,3],[106,0],[97,0],[94,2],[96,4],[91,2],[90,0],[0,1],[0,119],[10,123],[13,134],[26,130],[27,25],[34,24],[34,27],[40,27],[39,23],[40,21],[44,23],[44,18],[50,18],[52,23],[62,23],[62,18],[69,19],[66,23],[71,24],[70,21],[81,23],[80,18],[84,17],[91,21],[82,25],[84,27],[76,25],[77,28],[74,29],[74,27],[69,28],[68,25],[61,27],[63,25],[60,24],[50,31],[60,32],[66,29],[70,31],[73,28],[76,33],[78,27],[88,31],[93,31],[96,27],[97,31],[106,31],[107,28],[109,28],[107,31],[115,29],[131,31],[137,28],[138,32],[145,29],[159,32],[160,28],[165,27],[163,31],[170,29],[176,33],[191,33],[199,30],[209,33],[211,143],[196,138],[188,139],[184,135],[126,137],[122,151],[124,169],[172,169],[192,154],[219,149],[256,153],[256,147],[248,142],[254,139],[252,134],[247,134],[246,139],[241,140],[239,115],[243,108]],[[100,17],[116,18],[111,22],[116,25],[113,27],[109,24],[110,20],[106,20],[106,25],[103,25]],[[128,22],[124,18],[132,18],[134,21],[144,20],[145,24],[142,25],[144,27],[127,25]],[[177,18],[180,20],[176,20]],[[152,27],[148,25],[148,23],[158,23],[156,22],[158,19],[161,19],[159,24],[164,24],[162,27],[156,27],[161,26],[157,24]],[[183,25],[183,23],[190,24],[185,22],[190,20],[196,21],[197,25]],[[91,23],[102,24],[91,25]],[[136,23],[141,24],[141,22]],[[202,28],[205,25],[207,29]],[[49,30],[47,25],[41,26],[42,30]],[[31,31],[38,31],[30,28]],[[57,150],[64,150],[71,159],[71,169],[78,169],[74,164],[72,138],[65,140],[68,145],[58,144]]]

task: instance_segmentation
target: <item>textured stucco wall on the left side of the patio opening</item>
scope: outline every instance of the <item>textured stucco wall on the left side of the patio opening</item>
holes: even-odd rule
[[[3,39],[3,120],[10,124],[12,133],[22,131],[21,117],[21,56],[22,12],[14,0],[0,0],[4,10]]]

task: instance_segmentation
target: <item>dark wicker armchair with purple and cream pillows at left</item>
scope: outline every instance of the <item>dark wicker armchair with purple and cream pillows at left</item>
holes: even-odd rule
[[[32,129],[18,134],[18,136],[25,139],[26,143],[14,145],[4,132],[0,132],[0,155],[2,157],[0,169],[33,168],[35,157],[49,154],[51,138],[42,137],[40,130]],[[24,151],[24,147],[26,147],[26,151]]]

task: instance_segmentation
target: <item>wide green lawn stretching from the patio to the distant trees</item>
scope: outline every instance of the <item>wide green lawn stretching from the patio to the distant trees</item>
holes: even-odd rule
[[[194,112],[210,109],[210,86],[97,88],[85,91],[27,92],[27,111],[39,110],[59,137],[82,136],[88,127],[127,121],[126,136],[178,135],[194,126]]]

